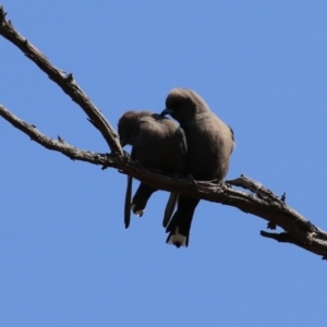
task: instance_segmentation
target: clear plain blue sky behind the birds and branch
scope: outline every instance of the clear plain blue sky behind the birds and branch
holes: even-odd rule
[[[112,125],[201,94],[237,138],[228,178],[262,182],[327,230],[327,1],[1,1]],[[0,102],[106,153],[85,113],[0,38]],[[327,263],[202,202],[189,249],[158,192],[123,226],[125,175],[74,162],[0,119],[0,326],[326,326]]]

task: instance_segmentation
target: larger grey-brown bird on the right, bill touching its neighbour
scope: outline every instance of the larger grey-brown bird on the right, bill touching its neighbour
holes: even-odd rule
[[[199,181],[222,181],[234,146],[233,131],[222,122],[194,90],[173,88],[161,116],[170,114],[184,130],[187,153],[185,175]],[[178,208],[166,232],[167,243],[187,246],[192,218],[198,198],[179,196]]]

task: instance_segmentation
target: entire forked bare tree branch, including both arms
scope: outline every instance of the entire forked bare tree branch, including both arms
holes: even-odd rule
[[[33,141],[48,149],[60,152],[73,160],[100,165],[102,169],[108,167],[116,168],[122,173],[132,175],[160,190],[237,207],[246,214],[249,213],[267,220],[268,228],[270,229],[276,229],[276,226],[279,226],[284,230],[281,233],[261,231],[261,235],[278,242],[292,243],[322,255],[324,259],[327,258],[327,233],[289,207],[284,203],[284,194],[279,198],[270,190],[245,175],[218,184],[202,181],[194,183],[194,181],[187,179],[164,175],[138,166],[126,153],[123,153],[118,142],[116,131],[77,86],[72,75],[68,75],[56,69],[39,50],[28,44],[27,40],[13,28],[11,22],[5,20],[5,13],[2,7],[0,7],[0,34],[17,46],[81,106],[90,122],[101,132],[112,153],[108,155],[81,150],[69,145],[60,137],[58,141],[47,137],[40,133],[36,126],[19,119],[0,105],[0,116],[13,126],[27,134]],[[235,190],[232,186],[242,187],[246,190],[246,192]]]

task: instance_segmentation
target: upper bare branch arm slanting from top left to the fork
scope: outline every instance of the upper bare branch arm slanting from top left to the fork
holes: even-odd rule
[[[89,121],[100,131],[112,153],[120,156],[123,150],[119,144],[118,135],[111,128],[110,123],[105,119],[102,113],[94,106],[89,98],[77,85],[72,74],[68,74],[57,69],[50,63],[45,55],[43,55],[35,46],[27,41],[19,32],[15,31],[11,21],[5,20],[5,12],[0,5],[0,34],[14,44],[23,53],[35,62],[50,80],[56,82],[62,90],[68,94],[88,116]]]

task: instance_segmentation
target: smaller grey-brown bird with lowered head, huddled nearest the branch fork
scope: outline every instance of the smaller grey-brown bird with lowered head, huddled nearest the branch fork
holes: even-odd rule
[[[185,134],[172,120],[150,111],[126,111],[119,119],[118,132],[122,146],[132,145],[131,157],[140,165],[167,173],[183,174],[186,153]],[[142,216],[147,201],[157,191],[141,183],[132,202],[132,178],[128,177],[124,205],[124,223],[129,228],[131,210]],[[170,194],[164,223],[168,223],[174,210],[178,195]]]

